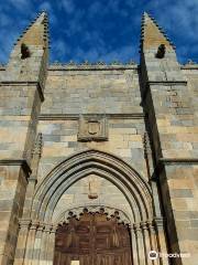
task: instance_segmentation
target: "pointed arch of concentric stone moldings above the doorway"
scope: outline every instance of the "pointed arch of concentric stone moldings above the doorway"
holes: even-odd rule
[[[92,149],[68,157],[37,186],[33,198],[32,218],[52,222],[53,211],[62,194],[73,183],[90,173],[106,178],[120,189],[131,206],[131,222],[153,218],[152,192],[146,181],[114,155]]]

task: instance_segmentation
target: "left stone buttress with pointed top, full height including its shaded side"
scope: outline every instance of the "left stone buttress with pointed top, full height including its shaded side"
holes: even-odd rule
[[[0,82],[0,264],[12,264],[48,54],[43,12],[16,41]]]

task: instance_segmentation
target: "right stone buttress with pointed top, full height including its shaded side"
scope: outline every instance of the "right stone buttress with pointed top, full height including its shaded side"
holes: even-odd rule
[[[155,156],[167,222],[170,253],[190,253],[172,258],[173,264],[196,264],[198,258],[196,112],[187,78],[175,47],[154,19],[143,15],[141,39],[142,104]]]

